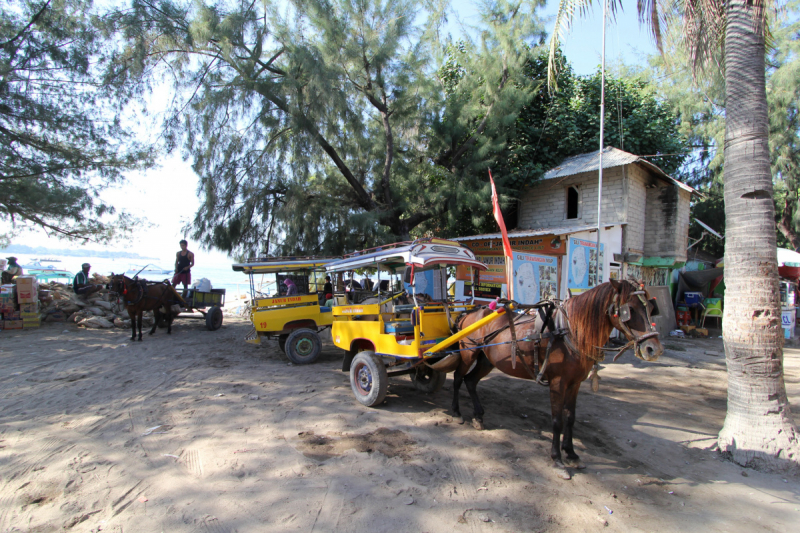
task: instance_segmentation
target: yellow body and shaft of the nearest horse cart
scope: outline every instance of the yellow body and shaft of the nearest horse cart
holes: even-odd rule
[[[386,300],[386,302],[389,301]],[[465,304],[449,304],[449,306],[451,313],[454,309],[473,309],[475,307]],[[423,307],[415,308],[415,311],[417,320],[413,340],[409,334],[406,335],[409,338],[405,340],[410,340],[411,343],[400,344],[397,337],[403,335],[386,332],[386,324],[387,322],[406,320],[410,322],[410,318],[398,317],[398,314],[393,312],[381,313],[380,304],[335,307],[331,326],[333,343],[343,350],[350,350],[353,343],[364,340],[369,342],[374,347],[375,353],[380,355],[426,359],[437,355],[437,352],[455,344],[505,312],[502,308],[498,309],[455,335],[451,335],[443,304],[426,304]]]

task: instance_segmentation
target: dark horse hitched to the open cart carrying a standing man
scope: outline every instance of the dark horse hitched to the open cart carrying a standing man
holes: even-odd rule
[[[156,332],[161,319],[166,319],[167,333],[172,333],[172,305],[186,302],[167,282],[148,283],[145,280],[131,279],[123,274],[111,274],[108,289],[122,297],[128,316],[131,317],[131,340],[136,341],[136,324],[139,324],[139,340],[142,340],[142,316],[145,311],[153,311],[153,327],[150,335]],[[162,311],[163,309],[163,311]]]

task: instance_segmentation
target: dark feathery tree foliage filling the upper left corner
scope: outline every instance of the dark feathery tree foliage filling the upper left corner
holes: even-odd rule
[[[0,219],[14,227],[2,240],[38,226],[107,241],[134,222],[98,199],[147,161],[107,98],[102,26],[85,0],[0,6]]]

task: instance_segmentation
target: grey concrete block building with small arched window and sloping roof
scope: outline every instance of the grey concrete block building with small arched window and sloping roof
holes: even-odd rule
[[[555,256],[558,262],[556,279],[540,283],[540,296],[549,287],[547,283],[555,284],[548,295],[554,290],[557,297],[564,298],[568,291],[588,290],[609,277],[644,279],[649,286],[667,287],[671,270],[686,261],[689,206],[697,191],[653,163],[609,147],[603,151],[603,229],[598,264],[599,168],[597,152],[570,157],[522,192],[518,225],[509,231],[512,249]],[[457,240],[491,261],[492,268],[498,269],[497,282],[500,234]],[[491,296],[483,292],[486,298]]]

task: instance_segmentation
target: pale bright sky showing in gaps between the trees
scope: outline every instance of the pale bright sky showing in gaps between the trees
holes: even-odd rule
[[[464,2],[458,5],[458,15],[469,24],[476,21],[474,7]],[[541,12],[549,16],[548,34],[552,30],[558,3],[550,0]],[[563,43],[567,59],[572,63],[575,73],[588,75],[597,71],[601,58],[602,4],[597,3],[585,19],[573,25]],[[628,3],[628,10],[618,14],[616,22],[610,22],[606,30],[606,63],[618,63],[620,59],[628,65],[644,64],[649,54],[656,53],[652,39],[646,30],[639,27],[635,3]],[[154,258],[154,263],[171,265],[178,241],[189,239],[181,229],[193,217],[200,204],[197,193],[198,178],[191,169],[190,162],[183,161],[177,154],[165,157],[160,166],[147,172],[131,173],[124,187],[103,191],[102,198],[115,206],[138,217],[146,218],[150,226],[134,231],[124,242],[109,246],[88,244],[86,248],[99,250],[131,251],[143,257]],[[189,239],[189,249],[197,253],[197,260],[207,264],[230,264],[227,254],[211,250],[201,251]],[[77,247],[69,245],[44,232],[36,231],[20,235],[13,244],[45,246],[50,248]]]

